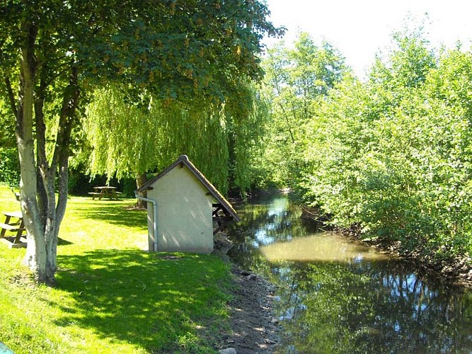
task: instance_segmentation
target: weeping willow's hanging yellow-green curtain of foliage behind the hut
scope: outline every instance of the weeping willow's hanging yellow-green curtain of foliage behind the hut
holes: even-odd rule
[[[246,190],[267,118],[267,105],[253,84],[240,83],[223,99],[127,101],[117,86],[99,89],[86,110],[85,131],[92,174],[133,176],[137,188],[148,171],[160,171],[187,154],[223,193]]]

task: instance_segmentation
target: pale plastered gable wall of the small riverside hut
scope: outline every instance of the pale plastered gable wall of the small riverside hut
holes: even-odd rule
[[[158,251],[213,251],[212,197],[187,166],[176,166],[147,191],[157,202]],[[148,206],[149,250],[154,250],[152,204]]]

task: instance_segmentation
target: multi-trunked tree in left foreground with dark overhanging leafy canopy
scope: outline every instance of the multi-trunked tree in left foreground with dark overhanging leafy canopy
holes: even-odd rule
[[[130,99],[143,86],[221,96],[234,77],[260,77],[260,40],[277,33],[268,14],[257,0],[1,1],[1,94],[16,122],[25,263],[39,282],[57,270],[80,98],[112,81],[135,88]]]

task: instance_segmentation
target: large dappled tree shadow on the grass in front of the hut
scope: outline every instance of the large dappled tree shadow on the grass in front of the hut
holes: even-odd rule
[[[58,287],[75,300],[73,307],[52,304],[62,308],[58,326],[79,324],[110,341],[173,353],[188,333],[203,338],[197,332],[209,319],[221,319],[224,272],[212,256],[96,250],[57,258],[64,265]]]

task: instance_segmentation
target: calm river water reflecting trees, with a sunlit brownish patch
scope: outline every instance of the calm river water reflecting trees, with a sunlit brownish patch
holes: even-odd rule
[[[279,285],[280,353],[472,353],[472,292],[321,232],[277,196],[241,205],[229,256]]]

